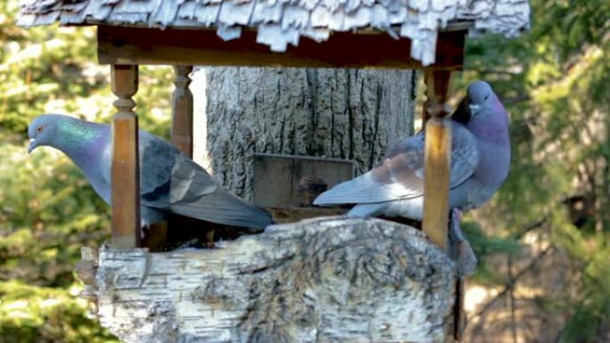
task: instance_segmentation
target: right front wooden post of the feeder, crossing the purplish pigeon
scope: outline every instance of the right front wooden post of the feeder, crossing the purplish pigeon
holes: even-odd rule
[[[425,70],[425,180],[424,232],[442,249],[447,250],[449,224],[449,166],[451,127],[447,109],[449,91],[448,70]]]

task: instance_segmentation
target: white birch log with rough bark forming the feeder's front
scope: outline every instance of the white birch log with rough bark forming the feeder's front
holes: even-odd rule
[[[126,342],[442,342],[452,328],[454,264],[424,233],[381,219],[83,257],[100,322]]]

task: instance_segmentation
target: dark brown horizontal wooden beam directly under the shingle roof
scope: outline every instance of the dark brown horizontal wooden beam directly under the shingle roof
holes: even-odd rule
[[[466,31],[441,32],[433,69],[461,69]],[[256,43],[257,33],[223,41],[215,30],[144,29],[98,26],[100,63],[211,66],[276,66],[309,68],[421,69],[410,57],[411,41],[383,34],[335,32],[325,42],[302,37],[298,46],[273,53]]]

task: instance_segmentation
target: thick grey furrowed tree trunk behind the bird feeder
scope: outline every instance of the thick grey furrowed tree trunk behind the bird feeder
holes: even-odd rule
[[[254,152],[352,159],[361,174],[413,134],[416,72],[204,69],[211,172],[252,199]]]

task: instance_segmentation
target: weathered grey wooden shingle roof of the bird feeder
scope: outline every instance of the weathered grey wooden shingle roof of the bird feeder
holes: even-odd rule
[[[257,42],[284,52],[300,37],[377,29],[412,41],[411,56],[433,63],[438,31],[515,36],[530,25],[527,0],[22,0],[18,24],[117,25],[217,30],[225,40],[258,29]]]

